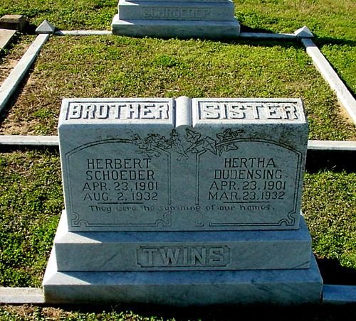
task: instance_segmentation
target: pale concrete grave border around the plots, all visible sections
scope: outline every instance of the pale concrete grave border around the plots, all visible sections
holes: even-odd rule
[[[45,21],[43,21],[44,23]],[[47,21],[46,21],[47,22]],[[47,23],[45,23],[46,26]],[[52,26],[51,24],[49,24]],[[54,28],[54,26],[53,26]],[[108,36],[111,31],[54,31],[47,28],[45,31],[38,28],[38,36],[30,48],[23,55],[14,70],[0,87],[0,114],[5,108],[12,94],[23,77],[30,69],[41,47],[46,43],[50,34],[54,36]],[[310,55],[315,67],[323,75],[331,89],[333,89],[352,121],[356,124],[356,100],[340,80],[333,67],[330,65],[319,48],[313,43],[313,34],[308,27],[298,29],[295,33],[241,33],[242,39],[271,39],[271,40],[301,40],[306,53]],[[236,39],[239,39],[236,38]],[[0,135],[0,148],[4,146],[58,147],[58,136],[6,136]],[[356,151],[356,141],[308,141],[308,151]],[[40,288],[2,288],[0,287],[0,304],[46,304],[43,290]],[[356,285],[323,285],[323,303],[346,304],[356,303]]]

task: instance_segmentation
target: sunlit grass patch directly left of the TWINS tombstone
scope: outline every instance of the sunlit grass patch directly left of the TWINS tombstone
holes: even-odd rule
[[[0,154],[0,284],[42,283],[63,210],[58,153]]]

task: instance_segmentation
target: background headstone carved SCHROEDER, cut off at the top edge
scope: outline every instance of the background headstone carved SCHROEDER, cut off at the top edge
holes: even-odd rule
[[[120,0],[112,33],[125,36],[236,38],[231,0]]]

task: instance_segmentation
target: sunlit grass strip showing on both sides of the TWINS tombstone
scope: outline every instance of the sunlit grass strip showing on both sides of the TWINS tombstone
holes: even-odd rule
[[[0,153],[0,286],[40,287],[63,194],[58,153]],[[356,268],[356,173],[306,173],[303,213],[318,258]]]

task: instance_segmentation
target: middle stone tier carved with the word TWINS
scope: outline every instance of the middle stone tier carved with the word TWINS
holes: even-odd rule
[[[189,271],[308,268],[311,238],[300,229],[239,232],[68,232],[54,249],[58,271]]]

